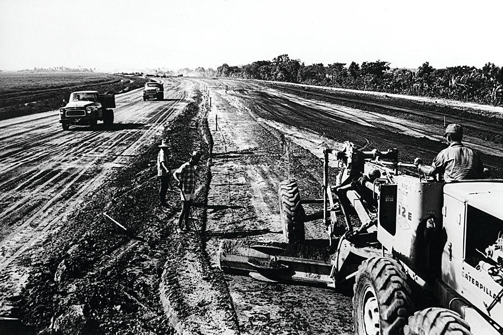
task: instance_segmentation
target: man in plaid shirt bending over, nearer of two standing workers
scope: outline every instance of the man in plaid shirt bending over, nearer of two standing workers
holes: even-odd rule
[[[178,217],[178,227],[183,230],[189,229],[190,207],[196,198],[196,171],[194,167],[199,163],[201,153],[194,151],[188,162],[184,163],[174,173],[173,177],[179,182],[182,198],[182,212]]]

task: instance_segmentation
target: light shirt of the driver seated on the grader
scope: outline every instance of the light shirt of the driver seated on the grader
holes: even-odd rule
[[[435,173],[444,173],[446,182],[484,177],[484,166],[477,153],[461,142],[452,142],[439,152],[432,166]]]

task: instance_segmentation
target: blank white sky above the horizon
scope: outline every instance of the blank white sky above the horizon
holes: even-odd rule
[[[503,0],[0,0],[0,69],[503,65]]]

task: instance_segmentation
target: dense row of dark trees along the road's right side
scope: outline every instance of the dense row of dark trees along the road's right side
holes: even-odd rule
[[[391,68],[389,62],[381,60],[346,65],[305,65],[284,54],[272,61],[257,61],[243,66],[224,63],[216,70],[198,67],[195,72],[201,76],[274,80],[503,104],[503,69],[493,63],[487,63],[481,69],[466,65],[436,69],[429,62],[417,69]]]

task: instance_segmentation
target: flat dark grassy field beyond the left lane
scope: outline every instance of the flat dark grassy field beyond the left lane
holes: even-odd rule
[[[148,81],[89,72],[0,72],[0,120],[57,109],[76,90],[122,93]]]

